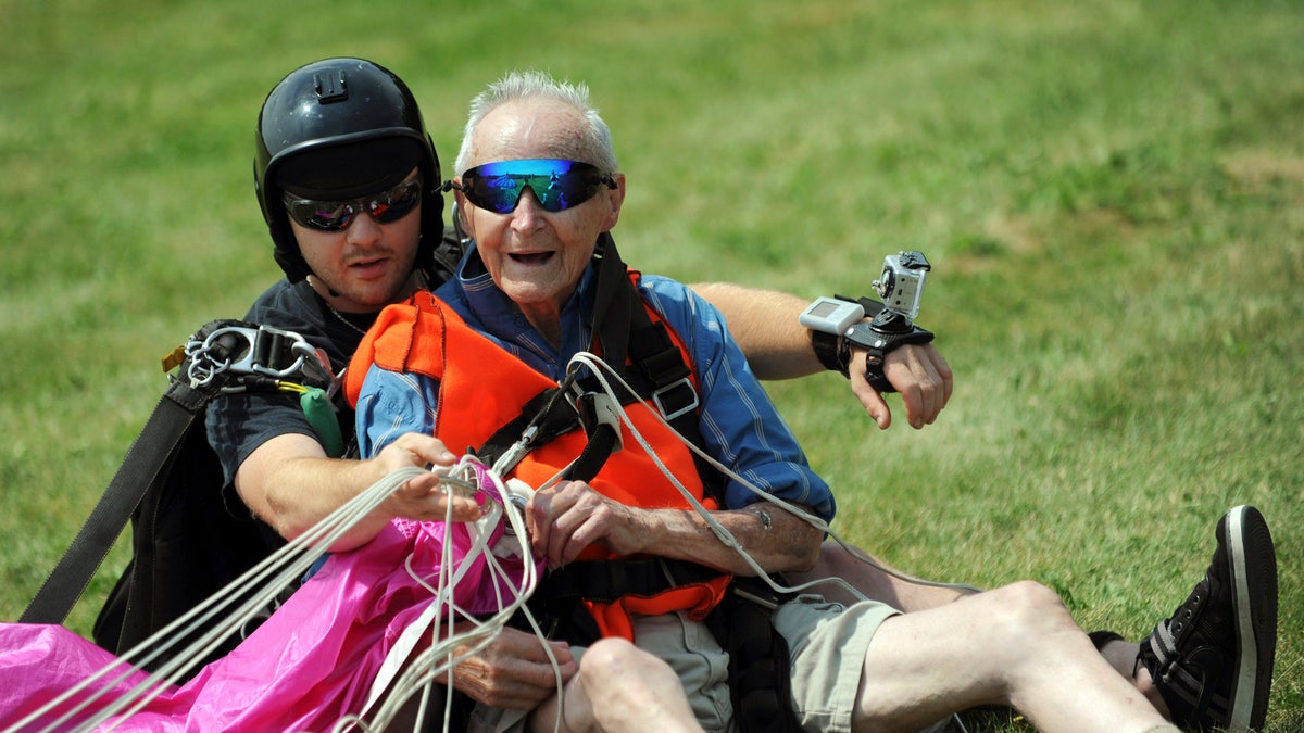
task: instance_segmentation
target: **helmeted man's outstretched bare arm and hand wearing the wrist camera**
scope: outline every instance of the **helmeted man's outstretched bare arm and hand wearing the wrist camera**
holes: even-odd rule
[[[824,370],[811,350],[810,331],[797,322],[807,300],[732,283],[696,283],[692,290],[725,314],[729,334],[762,380],[790,380]],[[892,410],[865,380],[863,350],[852,350],[850,374],[852,393],[879,428],[887,429]],[[931,343],[892,351],[883,374],[901,394],[906,419],[915,429],[936,421],[955,387],[951,366]]]

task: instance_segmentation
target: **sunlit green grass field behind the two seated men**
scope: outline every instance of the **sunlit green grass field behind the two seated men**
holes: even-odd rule
[[[1291,1],[494,4],[0,0],[0,620],[162,394],[158,357],[279,270],[254,119],[289,69],[377,60],[443,159],[514,68],[587,82],[645,271],[863,293],[934,263],[940,420],[878,432],[771,385],[836,528],[917,574],[1034,578],[1145,634],[1260,506],[1270,724],[1304,728],[1304,7]],[[892,403],[900,407],[898,402]],[[70,625],[87,633],[119,548]],[[1035,653],[1035,650],[1029,650]],[[0,651],[3,653],[3,651]]]

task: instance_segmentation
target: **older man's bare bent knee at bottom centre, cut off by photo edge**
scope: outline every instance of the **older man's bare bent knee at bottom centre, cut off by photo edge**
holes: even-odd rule
[[[562,694],[562,730],[570,733],[702,730],[670,666],[625,639],[602,639],[588,647],[579,674]],[[531,728],[552,732],[556,721],[553,696],[535,711]]]

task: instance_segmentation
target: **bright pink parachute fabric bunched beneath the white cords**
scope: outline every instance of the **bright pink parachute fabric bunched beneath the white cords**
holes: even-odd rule
[[[489,546],[502,533],[499,520]],[[426,586],[436,586],[445,543],[451,543],[454,566],[464,571],[452,590],[458,608],[473,614],[494,613],[515,599],[524,570],[519,557],[494,558],[506,571],[507,578],[502,578],[490,571],[484,553],[468,560],[475,543],[467,524],[394,520],[366,545],[330,556],[233,652],[201,669],[184,686],[168,686],[129,719],[115,720],[116,729],[319,732],[360,713],[398,636],[436,601]],[[425,584],[413,578],[408,563]],[[425,644],[430,636],[428,631]],[[0,625],[0,729],[115,660],[60,626]],[[100,687],[77,700],[119,674],[106,677]],[[73,724],[85,721],[146,677],[133,672],[112,685],[111,694],[93,703]],[[76,700],[60,711],[73,704]],[[25,729],[46,728],[60,711]]]

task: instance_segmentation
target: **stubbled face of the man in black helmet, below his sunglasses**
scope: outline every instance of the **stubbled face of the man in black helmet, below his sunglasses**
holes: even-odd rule
[[[419,175],[413,170],[406,180]],[[338,232],[305,227],[292,217],[289,227],[312,269],[313,288],[336,310],[370,313],[407,295],[421,239],[420,203],[390,223],[359,213]]]

